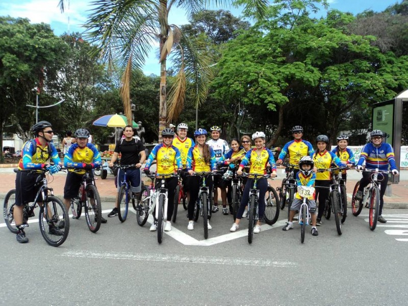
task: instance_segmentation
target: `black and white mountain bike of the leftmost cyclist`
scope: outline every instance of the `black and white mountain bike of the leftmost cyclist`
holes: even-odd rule
[[[39,170],[18,170],[14,172],[24,171],[32,174],[37,174],[35,186],[39,187],[35,196],[34,202],[30,205],[29,202],[24,202],[23,207],[23,224],[24,227],[29,226],[28,219],[35,216],[34,210],[40,207],[38,220],[40,232],[44,240],[51,246],[60,246],[68,237],[69,233],[69,217],[65,209],[64,203],[54,196],[53,188],[48,187],[49,174],[47,169]],[[10,190],[4,199],[3,215],[7,227],[10,232],[17,234],[13,211],[15,205],[16,190]],[[42,204],[40,204],[42,203]],[[59,228],[58,225],[63,221],[64,226]]]

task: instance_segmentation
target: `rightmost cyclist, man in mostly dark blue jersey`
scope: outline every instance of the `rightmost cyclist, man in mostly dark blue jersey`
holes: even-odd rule
[[[382,131],[374,130],[370,133],[371,142],[367,143],[361,150],[360,159],[357,163],[357,170],[363,169],[363,163],[366,162],[366,169],[387,171],[390,166],[391,172],[398,175],[397,165],[395,164],[394,150],[389,143],[382,142]],[[363,177],[360,180],[359,191],[356,192],[354,198],[356,200],[363,199],[363,190],[370,183],[370,172],[363,172]],[[379,178],[380,175],[378,175]],[[381,190],[379,192],[379,213],[378,222],[386,223],[387,220],[382,217],[382,206],[384,206],[384,194],[388,183],[388,173],[381,173],[384,178],[381,181]]]

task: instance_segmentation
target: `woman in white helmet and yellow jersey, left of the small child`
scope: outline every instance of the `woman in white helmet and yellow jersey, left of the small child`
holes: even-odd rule
[[[252,140],[255,142],[255,148],[251,149],[247,152],[245,157],[242,159],[239,168],[237,170],[237,174],[242,174],[242,169],[250,163],[249,173],[257,173],[257,174],[266,174],[267,165],[269,163],[272,174],[271,177],[276,176],[276,166],[275,166],[275,159],[273,157],[273,153],[270,149],[264,146],[265,144],[265,134],[263,132],[256,132],[252,134]],[[254,180],[249,175],[248,181],[245,184],[244,192],[242,194],[241,203],[237,212],[237,218],[235,219],[235,223],[230,228],[231,232],[235,232],[239,228],[239,222],[241,221],[242,214],[244,213],[245,206],[249,200],[249,191],[253,188]],[[253,229],[253,233],[258,234],[261,232],[261,221],[264,218],[265,212],[265,193],[268,187],[268,180],[265,177],[261,177],[258,180],[257,187],[259,189],[259,199],[258,199],[258,209],[259,209],[259,219],[255,228]]]

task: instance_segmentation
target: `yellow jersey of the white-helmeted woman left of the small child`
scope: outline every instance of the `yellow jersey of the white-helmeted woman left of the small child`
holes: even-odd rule
[[[250,163],[249,173],[265,174],[266,165],[269,163],[272,171],[276,171],[275,159],[270,149],[263,148],[261,153],[257,153],[257,148],[247,152],[240,163],[240,167],[245,167]]]

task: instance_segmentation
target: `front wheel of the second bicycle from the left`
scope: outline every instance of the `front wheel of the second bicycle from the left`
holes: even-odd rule
[[[102,206],[99,192],[93,185],[86,187],[85,219],[89,230],[96,233],[99,230],[102,219]]]

